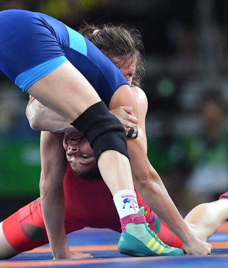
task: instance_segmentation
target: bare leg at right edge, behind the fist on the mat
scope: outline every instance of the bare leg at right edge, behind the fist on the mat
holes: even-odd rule
[[[191,210],[185,218],[195,236],[203,241],[207,241],[227,219],[228,199],[200,204]]]

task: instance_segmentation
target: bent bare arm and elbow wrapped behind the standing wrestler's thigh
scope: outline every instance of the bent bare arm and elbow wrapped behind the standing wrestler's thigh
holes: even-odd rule
[[[65,118],[42,105],[32,96],[29,98],[26,116],[29,120],[30,127],[34,130],[51,132],[74,131],[74,127]]]

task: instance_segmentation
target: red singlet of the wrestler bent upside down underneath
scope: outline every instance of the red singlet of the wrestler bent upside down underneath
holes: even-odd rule
[[[81,179],[71,171],[68,163],[63,187],[66,233],[81,230],[84,227],[108,228],[121,232],[112,194],[103,179]],[[164,243],[181,248],[183,243],[180,239],[145,204],[137,190],[136,193],[139,206],[145,207],[146,221],[150,228],[159,234]],[[95,201],[96,206],[94,206]],[[9,216],[3,221],[2,228],[9,244],[20,252],[47,244],[41,199],[36,199]]]

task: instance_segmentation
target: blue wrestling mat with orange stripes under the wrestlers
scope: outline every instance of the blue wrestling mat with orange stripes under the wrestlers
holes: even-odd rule
[[[180,257],[129,257],[117,251],[119,233],[111,230],[84,229],[69,234],[71,250],[89,252],[93,259],[88,260],[52,260],[49,246],[43,246],[6,261],[0,261],[0,268],[220,268],[228,267],[228,224],[214,234],[212,255]]]

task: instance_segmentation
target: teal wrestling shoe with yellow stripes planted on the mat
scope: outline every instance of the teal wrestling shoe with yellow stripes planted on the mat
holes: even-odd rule
[[[144,207],[138,214],[144,215]],[[136,217],[137,219],[137,217]],[[181,256],[182,249],[169,247],[163,243],[157,234],[148,227],[148,223],[128,223],[122,232],[118,243],[120,253],[136,257],[148,256]]]

